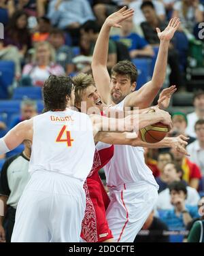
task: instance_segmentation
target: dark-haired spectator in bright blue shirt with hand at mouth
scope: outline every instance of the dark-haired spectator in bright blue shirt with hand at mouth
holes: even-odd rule
[[[169,229],[185,228],[193,218],[198,217],[197,206],[185,204],[187,197],[186,185],[182,181],[175,181],[169,185],[171,204],[173,209],[167,210],[161,219]]]

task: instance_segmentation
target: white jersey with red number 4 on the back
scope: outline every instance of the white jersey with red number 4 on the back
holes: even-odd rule
[[[33,118],[29,172],[46,170],[84,181],[92,168],[94,154],[88,115],[65,110],[49,111]]]

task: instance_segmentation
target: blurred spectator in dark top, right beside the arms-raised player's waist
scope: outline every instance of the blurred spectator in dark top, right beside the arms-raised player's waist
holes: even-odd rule
[[[173,155],[169,152],[160,152],[158,154],[157,159],[157,167],[160,172],[160,176],[156,177],[156,182],[159,185],[158,193],[165,190],[167,188],[167,182],[164,175],[164,167],[167,163],[171,163],[173,161]]]

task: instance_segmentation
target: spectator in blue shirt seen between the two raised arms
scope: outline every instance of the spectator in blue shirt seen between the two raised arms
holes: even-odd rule
[[[128,48],[132,59],[154,56],[152,46],[146,42],[146,39],[133,32],[133,17],[124,20],[121,25],[120,35],[114,35],[111,38],[122,42]]]

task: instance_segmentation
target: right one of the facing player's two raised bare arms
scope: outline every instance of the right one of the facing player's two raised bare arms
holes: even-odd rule
[[[148,108],[148,106],[151,105],[158,91],[162,88],[163,82],[165,81],[169,43],[179,26],[179,18],[172,18],[169,25],[163,32],[160,32],[160,29],[156,28],[158,37],[160,39],[160,46],[154,66],[152,80],[141,86],[141,89],[138,91],[135,91],[127,96],[124,103],[125,107],[139,106],[139,108]]]

